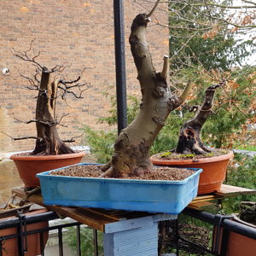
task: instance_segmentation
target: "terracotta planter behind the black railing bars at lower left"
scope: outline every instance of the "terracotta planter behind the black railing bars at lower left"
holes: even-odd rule
[[[27,212],[25,215],[34,215],[42,212],[47,212],[46,209],[42,210],[37,210],[34,212]],[[3,219],[8,219],[8,218],[1,218]],[[49,223],[48,221],[42,221],[34,224],[27,224],[26,225],[26,230],[31,231],[31,230],[39,230],[39,229],[44,229],[48,228]],[[14,235],[17,232],[17,228],[9,228],[5,230],[0,230],[0,236],[9,236],[9,235]],[[49,232],[45,231],[44,232],[44,247],[46,245],[46,242],[49,237]],[[19,256],[19,249],[18,249],[18,238],[11,238],[3,242],[3,256]],[[35,255],[40,255],[40,234],[31,234],[27,236],[27,253],[25,253],[26,256],[35,256]]]

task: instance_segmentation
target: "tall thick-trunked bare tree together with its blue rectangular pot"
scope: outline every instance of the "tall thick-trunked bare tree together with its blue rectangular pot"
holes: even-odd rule
[[[172,94],[166,82],[168,56],[164,57],[161,72],[153,67],[145,34],[154,9],[148,15],[137,15],[131,25],[129,42],[143,95],[136,119],[120,132],[114,143],[112,160],[101,166],[100,177],[64,177],[60,173],[55,175],[55,171],[38,174],[45,204],[177,214],[197,194],[201,170],[182,181],[163,181],[159,180],[161,173],[155,171],[149,157],[150,147],[166,118],[184,102],[191,87],[187,84],[181,96]],[[78,166],[86,167],[84,164]],[[78,166],[60,171],[68,175],[80,168]],[[182,173],[175,170],[177,175]],[[170,173],[167,171],[166,175]],[[151,179],[152,174],[157,180],[141,180],[147,176]],[[180,186],[182,184],[184,186]],[[175,188],[173,193],[169,190],[171,186]]]

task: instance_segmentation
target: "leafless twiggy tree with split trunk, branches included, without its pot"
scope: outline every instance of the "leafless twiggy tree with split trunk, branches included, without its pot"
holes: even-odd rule
[[[59,65],[51,69],[43,67],[37,61],[37,57],[40,55],[40,52],[38,52],[38,55],[29,57],[28,54],[31,50],[32,43],[30,49],[24,52],[18,52],[15,50],[15,56],[23,61],[32,62],[32,65],[36,67],[36,73],[33,78],[26,77],[22,74],[20,75],[29,81],[30,86],[27,86],[27,89],[38,90],[36,119],[24,122],[26,124],[32,122],[36,123],[37,137],[12,138],[14,140],[28,138],[36,139],[36,146],[31,153],[32,155],[74,153],[73,149],[68,147],[65,143],[74,142],[74,140],[71,139],[64,142],[59,137],[57,125],[61,125],[61,119],[67,114],[61,116],[61,119],[59,120],[56,118],[56,100],[60,96],[62,99],[65,99],[67,94],[72,94],[77,99],[80,99],[82,98],[84,90],[88,89],[88,84],[79,83],[81,75],[72,81],[61,79],[61,73],[66,67]],[[77,92],[74,92],[74,90]]]

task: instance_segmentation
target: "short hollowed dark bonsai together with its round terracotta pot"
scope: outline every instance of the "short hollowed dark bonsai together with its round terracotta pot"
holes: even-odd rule
[[[223,85],[224,82],[209,86],[202,105],[191,108],[191,110],[196,109],[195,117],[183,124],[179,132],[177,147],[151,157],[155,165],[202,168],[199,195],[220,189],[226,176],[229,160],[233,157],[233,153],[229,150],[208,148],[201,142],[201,128],[212,113],[215,90]]]

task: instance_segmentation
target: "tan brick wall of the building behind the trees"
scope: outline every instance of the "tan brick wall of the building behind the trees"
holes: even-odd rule
[[[128,37],[131,20],[145,9],[132,0],[125,0],[124,4],[127,93],[139,95]],[[152,3],[144,7],[150,9]],[[167,17],[159,11],[154,19],[166,21]],[[162,57],[168,54],[168,30],[156,26],[154,19],[148,26],[148,42],[154,66],[160,70]],[[0,131],[12,137],[36,136],[35,124],[24,125],[15,120],[34,118],[37,92],[26,90],[27,82],[19,75],[32,75],[34,67],[17,59],[12,51],[29,49],[34,38],[34,49],[41,51],[38,62],[46,67],[71,66],[64,71],[66,79],[75,79],[84,67],[90,68],[83,75],[83,80],[91,84],[84,99],[68,96],[67,102],[58,103],[59,117],[69,113],[64,119],[68,128],[59,126],[61,138],[78,136],[83,124],[106,128],[97,124],[97,119],[108,115],[110,104],[102,92],[115,84],[113,1],[1,0],[0,21]],[[9,68],[8,76],[2,74],[3,67]],[[15,142],[0,133],[0,152],[28,150],[33,144],[31,140]]]

